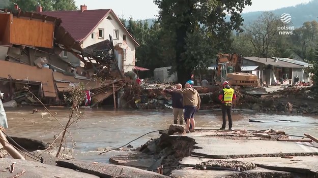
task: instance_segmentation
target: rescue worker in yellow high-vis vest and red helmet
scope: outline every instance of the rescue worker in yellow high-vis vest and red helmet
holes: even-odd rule
[[[221,100],[222,105],[222,120],[223,124],[220,130],[225,130],[226,126],[226,114],[228,118],[228,130],[232,130],[232,101],[236,100],[236,94],[234,89],[229,86],[227,81],[222,83],[223,89],[220,92],[219,100]]]

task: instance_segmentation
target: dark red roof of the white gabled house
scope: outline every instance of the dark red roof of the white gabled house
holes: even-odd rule
[[[118,17],[113,13],[111,9],[96,9],[96,10],[85,10],[81,11],[44,11],[37,12],[43,15],[52,16],[60,18],[62,20],[62,26],[72,35],[72,37],[81,42],[84,40],[93,29],[99,24],[99,22],[109,13],[115,16],[116,20],[124,25],[118,19]],[[131,39],[139,46],[135,39],[130,35],[127,29],[124,27],[127,34]]]

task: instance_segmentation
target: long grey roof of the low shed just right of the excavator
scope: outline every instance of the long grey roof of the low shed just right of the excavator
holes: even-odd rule
[[[298,64],[293,64],[291,62],[286,62],[286,61],[282,61],[282,60],[276,60],[273,58],[263,58],[263,57],[244,57],[245,60],[251,60],[254,62],[258,62],[258,63],[262,63],[265,65],[273,65],[273,66],[278,66],[278,67],[290,67],[290,68],[303,68],[303,65],[298,65]],[[277,62],[275,62],[277,61]]]

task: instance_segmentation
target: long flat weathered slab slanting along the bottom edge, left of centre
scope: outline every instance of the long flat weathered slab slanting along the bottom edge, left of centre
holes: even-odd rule
[[[149,178],[165,178],[169,176],[160,175],[155,172],[142,170],[134,167],[106,164],[106,163],[91,163],[84,161],[61,160],[56,161],[57,166],[79,170],[81,172],[90,173],[99,177],[115,177],[122,178],[133,177],[149,177]]]

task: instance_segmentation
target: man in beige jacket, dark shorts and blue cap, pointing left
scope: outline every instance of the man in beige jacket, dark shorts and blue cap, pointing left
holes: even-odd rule
[[[195,132],[195,121],[194,114],[200,108],[200,96],[199,93],[192,88],[194,82],[188,81],[185,84],[184,89],[174,89],[172,92],[182,93],[183,94],[183,105],[184,105],[184,118],[187,123],[186,132]],[[192,126],[190,130],[190,124]]]

